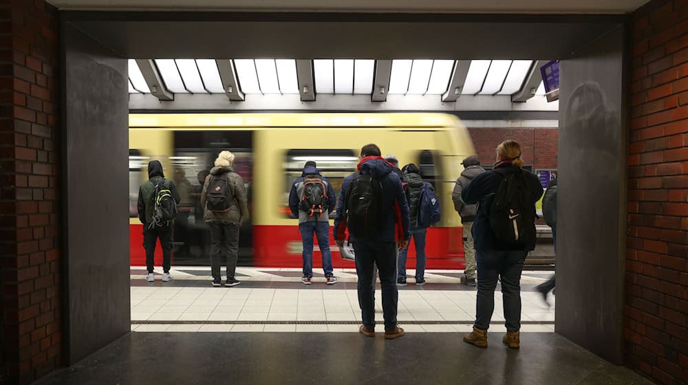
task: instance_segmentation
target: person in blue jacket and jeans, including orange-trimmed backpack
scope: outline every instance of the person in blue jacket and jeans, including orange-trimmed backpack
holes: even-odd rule
[[[299,218],[299,231],[303,242],[303,277],[301,282],[310,285],[313,278],[313,234],[323,259],[323,271],[327,285],[337,283],[332,271],[330,252],[330,212],[336,205],[334,188],[330,181],[321,175],[317,164],[312,160],[305,162],[301,177],[292,184],[289,192],[289,208],[294,217]]]

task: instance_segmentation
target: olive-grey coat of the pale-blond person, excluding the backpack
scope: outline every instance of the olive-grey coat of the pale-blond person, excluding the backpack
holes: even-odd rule
[[[232,189],[232,197],[234,203],[229,210],[223,212],[208,210],[206,206],[206,195],[208,194],[208,184],[212,178],[227,178],[229,186]],[[248,217],[248,206],[246,202],[246,189],[244,188],[244,179],[234,172],[231,167],[213,167],[211,173],[206,177],[201,192],[201,206],[203,210],[203,219],[206,223],[232,223],[240,225],[241,221]]]

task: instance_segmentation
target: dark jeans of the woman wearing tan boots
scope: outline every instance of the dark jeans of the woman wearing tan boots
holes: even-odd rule
[[[502,278],[502,300],[506,330],[521,329],[521,272],[528,253],[524,251],[478,251],[477,301],[475,304],[475,327],[487,330],[495,310],[495,287],[497,278]]]

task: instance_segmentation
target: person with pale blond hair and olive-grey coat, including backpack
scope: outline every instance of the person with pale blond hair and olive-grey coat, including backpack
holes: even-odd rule
[[[234,172],[234,154],[222,151],[215,159],[201,191],[203,219],[211,230],[212,285],[222,286],[220,262],[225,259],[226,286],[239,285],[235,277],[239,258],[239,228],[248,217],[246,188],[241,175]]]

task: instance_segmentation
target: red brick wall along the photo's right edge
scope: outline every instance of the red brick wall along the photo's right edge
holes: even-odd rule
[[[625,299],[627,364],[688,380],[688,1],[633,15]]]

